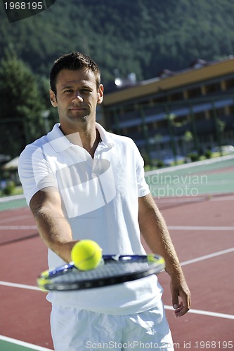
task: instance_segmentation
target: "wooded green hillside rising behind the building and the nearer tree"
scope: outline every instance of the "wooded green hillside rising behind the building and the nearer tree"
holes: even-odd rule
[[[48,77],[58,55],[82,51],[98,62],[104,83],[156,77],[196,58],[234,53],[233,0],[56,0],[43,13],[8,23],[0,5],[0,58],[15,51],[35,74]]]

